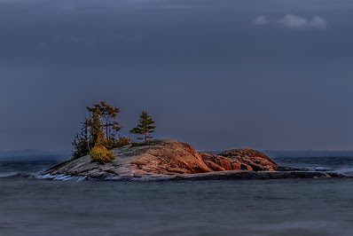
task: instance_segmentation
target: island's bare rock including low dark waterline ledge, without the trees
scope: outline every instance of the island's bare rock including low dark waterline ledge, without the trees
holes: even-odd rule
[[[114,160],[101,164],[90,155],[65,161],[41,173],[49,179],[101,180],[191,180],[191,179],[266,179],[292,177],[336,177],[322,171],[303,171],[278,167],[264,153],[231,149],[210,155],[173,139],[153,139],[113,149]]]

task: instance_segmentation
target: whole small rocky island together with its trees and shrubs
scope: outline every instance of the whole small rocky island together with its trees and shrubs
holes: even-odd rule
[[[87,107],[89,118],[73,142],[73,158],[38,177],[87,180],[192,180],[341,177],[336,173],[279,167],[264,153],[249,148],[211,155],[169,138],[150,139],[155,129],[152,116],[140,115],[130,133],[144,141],[135,143],[116,134],[120,109],[102,101]]]

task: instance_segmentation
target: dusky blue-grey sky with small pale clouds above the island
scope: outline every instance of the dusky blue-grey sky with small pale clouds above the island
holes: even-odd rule
[[[353,150],[353,2],[0,0],[0,150],[146,110],[198,150]]]

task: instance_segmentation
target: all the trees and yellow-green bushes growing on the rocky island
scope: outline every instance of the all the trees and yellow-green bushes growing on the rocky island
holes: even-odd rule
[[[111,149],[119,146],[133,144],[130,138],[118,135],[122,126],[117,121],[120,113],[118,107],[111,106],[106,101],[101,101],[93,106],[86,106],[88,116],[82,122],[82,128],[76,134],[73,142],[73,159],[90,154],[92,161],[107,163],[114,160]],[[130,133],[140,134],[148,144],[148,138],[153,138],[150,134],[154,132],[152,117],[143,112],[140,115],[137,127],[130,130]],[[117,137],[118,136],[118,137]]]

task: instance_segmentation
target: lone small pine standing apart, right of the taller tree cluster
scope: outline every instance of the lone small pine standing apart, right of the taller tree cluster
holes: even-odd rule
[[[150,116],[147,112],[142,112],[140,115],[139,122],[137,124],[137,127],[134,129],[130,130],[129,132],[131,134],[140,134],[143,137],[138,137],[137,139],[145,139],[145,144],[148,145],[149,138],[153,138],[151,136],[151,133],[154,132],[155,126],[153,125],[154,121],[152,119],[152,116]]]

